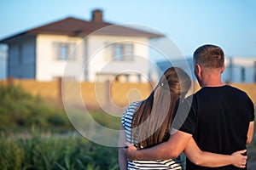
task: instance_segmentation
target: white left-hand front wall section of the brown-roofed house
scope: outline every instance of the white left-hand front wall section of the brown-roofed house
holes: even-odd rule
[[[54,42],[74,42],[79,44],[81,38],[67,36],[38,35],[37,38],[37,80],[51,81],[57,77],[63,77],[67,60],[56,59]],[[77,49],[73,61],[68,61],[66,77],[79,79],[79,72],[83,69],[83,53],[81,48]]]

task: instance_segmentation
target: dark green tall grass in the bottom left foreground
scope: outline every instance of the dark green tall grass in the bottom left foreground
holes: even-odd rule
[[[117,148],[94,144],[79,134],[0,137],[0,167],[20,169],[118,169]]]

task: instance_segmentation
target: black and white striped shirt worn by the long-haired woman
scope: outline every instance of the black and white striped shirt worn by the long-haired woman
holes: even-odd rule
[[[125,127],[125,136],[127,142],[135,144],[137,142],[131,141],[131,122],[134,112],[139,107],[139,102],[134,102],[124,111],[121,122]],[[137,138],[134,138],[137,141]],[[181,164],[175,160],[158,160],[158,161],[128,161],[128,170],[132,169],[175,169],[181,170]]]

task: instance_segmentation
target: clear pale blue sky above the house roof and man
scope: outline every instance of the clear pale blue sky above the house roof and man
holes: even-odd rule
[[[226,56],[256,56],[255,0],[1,0],[0,39],[69,16],[90,20],[96,8],[110,23],[160,31],[184,56],[206,43]]]

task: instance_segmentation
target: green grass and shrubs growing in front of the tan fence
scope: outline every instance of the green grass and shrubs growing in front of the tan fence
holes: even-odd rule
[[[20,87],[0,85],[1,170],[119,169],[118,149],[84,139],[59,106]],[[73,118],[90,128],[90,120],[73,110]],[[103,111],[90,112],[104,127],[119,129],[120,118]],[[256,125],[255,125],[256,126]],[[256,136],[248,146],[249,161],[256,161]]]

